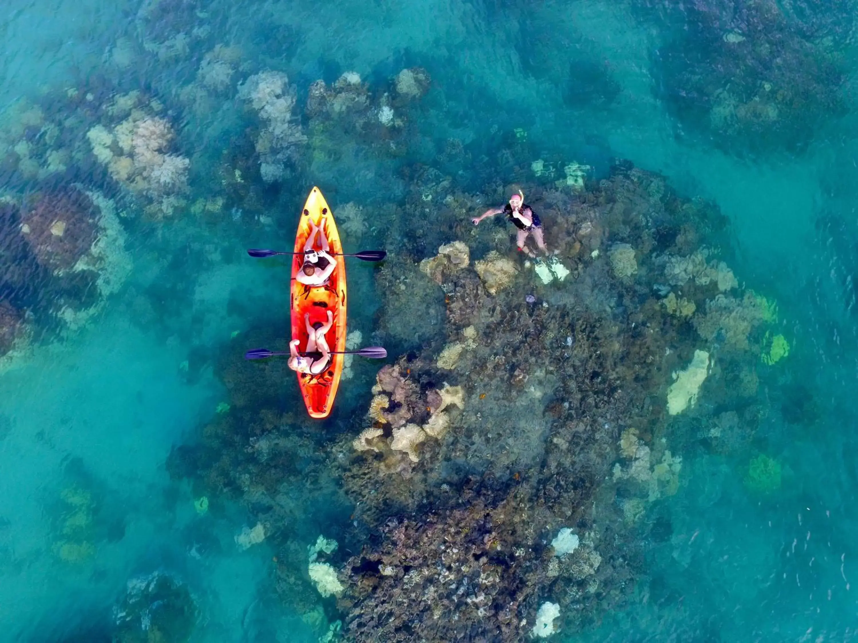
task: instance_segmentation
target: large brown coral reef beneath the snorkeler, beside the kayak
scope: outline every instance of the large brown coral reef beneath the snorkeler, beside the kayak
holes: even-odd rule
[[[254,111],[289,103],[285,76],[271,93],[261,80],[241,90]],[[352,141],[384,128],[384,106],[396,121],[406,108],[383,98],[356,75],[317,83],[311,147],[331,142],[339,119],[353,118]],[[468,225],[508,186],[465,194],[436,168],[403,176],[402,201],[373,206],[389,225],[372,234],[398,251],[374,273],[372,341],[399,357],[372,395],[308,425],[280,406],[286,367],[230,346],[215,366],[227,406],[200,445],[174,450],[170,472],[193,478],[212,511],[219,495],[244,502],[276,552],[281,599],[308,620],[337,610],[347,640],[574,634],[628,600],[643,566],[638,526],[680,489],[686,450],[729,453],[753,435],[754,346],[773,307],[713,250],[726,225],[716,207],[627,162],[598,183],[523,184],[556,221],[549,284],[508,231]],[[341,207],[356,235],[368,232],[366,207]],[[242,344],[282,350],[269,329]],[[695,400],[719,415],[690,412]],[[308,550],[294,534],[307,502],[328,512],[341,548],[319,538]]]

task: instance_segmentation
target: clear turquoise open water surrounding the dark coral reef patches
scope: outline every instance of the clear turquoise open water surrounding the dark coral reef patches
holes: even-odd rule
[[[417,160],[438,162],[449,173],[462,170],[462,183],[478,189],[490,179],[492,163],[477,159],[497,154],[501,137],[514,128],[527,130],[540,155],[576,159],[602,174],[611,157],[631,159],[662,171],[680,193],[716,201],[731,223],[730,266],[740,282],[776,298],[782,328],[793,340],[789,359],[761,382],[770,413],[746,452],[712,454],[687,441],[679,492],[636,527],[644,563],[632,600],[576,637],[849,640],[855,614],[849,583],[858,574],[858,454],[849,401],[858,364],[855,309],[849,311],[858,233],[854,52],[848,41],[832,45],[845,70],[837,88],[844,113],[813,114],[820,124],[801,152],[748,156],[740,153],[741,141],[725,147],[695,129],[666,98],[681,88],[664,87],[658,52],[699,15],[659,15],[643,5],[215,3],[197,16],[209,31],[190,39],[178,57],[160,60],[130,47],[123,91],[144,87],[165,100],[190,82],[218,42],[242,48],[239,68],[245,67],[233,84],[261,69],[284,69],[301,101],[312,81],[334,81],[349,69],[382,82],[420,65],[441,91],[424,99],[419,143],[404,158],[358,145],[314,162],[299,186],[267,201],[271,225],[226,216],[122,220],[134,259],[123,288],[86,328],[49,337],[0,376],[0,623],[9,640],[109,637],[112,607],[128,580],[159,570],[176,574],[195,596],[202,615],[198,640],[315,640],[274,598],[276,552],[269,541],[236,547],[235,534],[254,524],[247,508],[226,494],[212,496],[211,511],[200,516],[191,483],[167,471],[171,449],[193,444],[226,399],[215,376],[220,356],[234,352],[230,346],[254,328],[283,326],[282,274],[249,264],[241,249],[291,238],[284,213],[299,207],[305,182],[322,185],[332,202],[380,208],[402,200],[408,178],[400,168]],[[50,88],[97,87],[100,69],[117,74],[111,51],[118,40],[138,43],[155,29],[140,19],[143,7],[136,2],[92,3],[86,18],[80,4],[7,6],[4,105]],[[711,10],[725,21],[732,15],[727,4]],[[788,29],[800,27],[801,21],[788,21]],[[593,64],[607,69],[607,88],[591,83],[570,98],[570,70],[574,80],[577,69],[584,77]],[[207,169],[242,128],[246,115],[237,102],[221,95],[196,110],[178,101],[168,107],[194,168],[195,195],[218,180]],[[443,141],[453,137],[468,148],[473,165],[437,159]],[[495,171],[511,180],[500,160]],[[9,189],[36,190],[39,183],[10,181]],[[442,227],[452,230],[447,222]],[[364,245],[376,239],[384,235],[371,229]],[[350,272],[350,286],[360,293],[350,327],[365,338],[377,322],[372,274],[364,266]],[[239,334],[231,337],[234,331]],[[239,354],[246,347],[239,346]],[[353,388],[341,394],[342,416],[366,406],[374,370],[358,369]],[[785,422],[783,405],[806,391],[813,421]],[[295,402],[288,378],[281,403]],[[326,429],[332,439],[346,424],[342,416]],[[763,498],[742,484],[747,460],[758,453],[782,463],[781,489]],[[91,496],[88,532],[73,534],[77,544],[96,549],[82,564],[57,555],[69,540],[63,534],[69,506],[76,506],[63,499],[69,489]],[[296,541],[311,544],[318,533],[340,531],[338,523],[350,517],[319,510],[311,491],[304,498],[296,490],[294,497],[305,512],[305,520],[290,514]],[[651,527],[664,514],[672,532],[654,536]]]

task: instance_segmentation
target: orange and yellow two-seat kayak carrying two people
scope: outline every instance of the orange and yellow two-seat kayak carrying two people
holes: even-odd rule
[[[335,255],[336,267],[330,275],[327,285],[310,287],[301,284],[295,276],[304,264],[304,255],[294,255],[292,261],[292,297],[290,300],[292,309],[292,339],[300,340],[299,351],[304,351],[307,346],[307,328],[304,315],[309,313],[310,324],[316,322],[326,324],[328,322],[328,311],[334,314],[334,324],[325,335],[330,350],[339,351],[331,355],[331,361],[326,370],[317,376],[308,373],[298,373],[298,386],[301,389],[301,397],[307,406],[307,412],[311,418],[327,418],[334,406],[336,389],[340,386],[340,376],[345,356],[341,354],[346,350],[346,262],[342,256],[342,244],[340,233],[336,229],[334,213],[330,211],[328,202],[324,200],[322,191],[314,187],[307,197],[304,210],[298,224],[298,234],[295,235],[295,252],[304,252],[304,244],[310,237],[312,227],[322,225],[321,232],[328,239],[329,253]],[[318,241],[314,249],[320,249]]]

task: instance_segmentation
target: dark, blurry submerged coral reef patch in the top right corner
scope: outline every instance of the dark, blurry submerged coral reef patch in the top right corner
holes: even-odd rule
[[[805,5],[795,15],[774,2],[726,5],[695,4],[680,18],[690,28],[663,47],[668,105],[729,153],[807,147],[823,115],[844,109],[840,51],[849,41],[849,3]],[[807,33],[796,28],[802,21]]]

